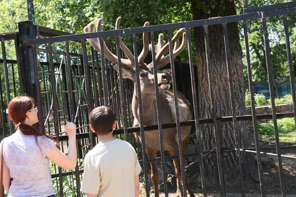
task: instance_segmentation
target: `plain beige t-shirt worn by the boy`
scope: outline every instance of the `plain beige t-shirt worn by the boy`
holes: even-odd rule
[[[81,192],[99,197],[134,197],[141,166],[133,146],[120,139],[99,142],[84,159]]]

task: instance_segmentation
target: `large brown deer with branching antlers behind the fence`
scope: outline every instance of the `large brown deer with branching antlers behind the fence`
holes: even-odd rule
[[[121,17],[118,17],[115,23],[115,30],[119,29]],[[84,27],[85,33],[92,33],[95,24],[89,23]],[[149,26],[149,22],[144,24],[144,27]],[[102,31],[102,19],[97,21],[97,32]],[[182,43],[179,45],[179,38],[182,35]],[[89,38],[86,39],[90,45],[101,53],[100,41],[99,38]],[[113,54],[107,47],[104,39],[103,51],[104,56],[111,63],[114,64],[113,68],[118,71],[117,61],[118,58]],[[186,33],[185,29],[178,30],[177,33],[172,38],[172,44],[174,44],[173,57],[175,58],[179,55],[185,48],[186,45]],[[138,104],[138,93],[136,89],[136,72],[135,72],[135,61],[139,63],[139,79],[140,79],[140,89],[141,89],[141,99],[142,99],[142,111],[143,111],[143,124],[144,126],[157,125],[157,109],[156,109],[156,98],[155,98],[155,88],[154,83],[158,85],[159,91],[159,115],[161,118],[161,124],[173,123],[176,122],[176,109],[174,94],[170,89],[172,83],[172,75],[170,69],[160,70],[160,68],[166,66],[170,63],[170,56],[164,56],[165,52],[169,49],[169,43],[165,43],[164,36],[162,33],[158,35],[158,42],[155,45],[155,59],[157,65],[157,82],[154,80],[153,74],[153,62],[147,64],[144,62],[148,54],[148,50],[152,51],[151,44],[148,43],[148,32],[143,33],[143,49],[140,55],[135,58],[129,48],[123,43],[121,37],[119,36],[119,47],[126,55],[127,59],[120,58],[121,68],[122,68],[122,77],[128,78],[135,83],[133,98],[132,98],[132,113],[134,116],[134,127],[140,126],[140,110]],[[185,96],[181,92],[177,92],[178,98],[178,108],[180,115],[180,122],[188,121],[192,119],[192,114],[189,108],[189,102],[185,99]],[[182,139],[182,151],[183,154],[186,152],[189,144],[189,135],[190,135],[191,126],[181,127],[181,139]],[[141,142],[141,133],[136,132],[135,137]],[[143,142],[142,142],[143,143]],[[148,158],[156,158],[157,152],[160,151],[160,142],[158,130],[145,131],[145,144],[146,144],[146,153]],[[176,128],[163,129],[163,148],[164,151],[168,151],[171,156],[179,155],[178,149],[178,135]],[[175,173],[177,177],[177,191],[176,197],[183,197],[181,192],[181,167],[180,160],[178,158],[173,159]],[[184,159],[185,163],[185,159]],[[154,187],[154,197],[159,197],[159,188],[158,188],[158,171],[157,171],[157,162],[150,162],[151,166],[151,180]],[[186,190],[190,197],[194,197],[189,184],[187,175],[185,175],[185,185]]]

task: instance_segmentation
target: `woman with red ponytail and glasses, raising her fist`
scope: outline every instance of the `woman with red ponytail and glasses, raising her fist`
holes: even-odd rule
[[[53,137],[32,126],[38,122],[37,113],[35,100],[31,97],[16,97],[8,104],[8,116],[16,125],[15,133],[1,142],[3,186],[8,197],[55,197],[49,160],[66,169],[76,166],[75,124],[65,126],[69,136],[68,155],[65,155],[56,147]]]

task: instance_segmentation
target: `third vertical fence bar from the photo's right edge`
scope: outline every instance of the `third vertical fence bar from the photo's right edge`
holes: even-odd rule
[[[256,116],[254,93],[253,93],[253,79],[252,79],[251,59],[250,59],[250,50],[249,50],[248,27],[247,27],[246,21],[243,21],[243,23],[244,23],[246,58],[247,58],[248,83],[249,83],[249,92],[251,95],[252,120],[253,120],[253,128],[254,128],[254,135],[255,135],[255,147],[256,147],[260,191],[261,191],[261,197],[265,197],[260,145],[259,145],[259,134],[258,134],[258,126],[257,126],[257,116]]]

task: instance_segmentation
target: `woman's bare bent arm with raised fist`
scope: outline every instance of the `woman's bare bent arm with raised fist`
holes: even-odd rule
[[[76,126],[74,123],[67,123],[65,129],[69,137],[68,155],[65,155],[57,147],[54,147],[46,157],[60,167],[74,169],[77,163]]]

